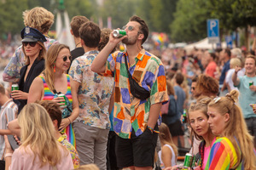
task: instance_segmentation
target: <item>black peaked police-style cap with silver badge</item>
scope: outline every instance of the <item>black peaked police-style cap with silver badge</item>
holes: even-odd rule
[[[35,28],[26,26],[20,32],[21,42],[46,42],[44,35]]]

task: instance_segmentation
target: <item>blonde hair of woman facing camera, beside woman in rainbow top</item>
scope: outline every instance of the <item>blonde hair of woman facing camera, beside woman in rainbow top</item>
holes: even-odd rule
[[[189,121],[189,126],[190,126],[190,119],[189,119],[189,113],[192,111],[201,111],[205,116],[207,116],[207,119],[209,118],[207,114],[207,106],[211,102],[212,98],[205,97],[198,102],[191,104],[189,107],[189,112],[188,112],[188,121]],[[191,126],[190,126],[191,127]],[[211,129],[209,128],[207,133],[212,133]],[[197,133],[195,133],[195,130],[191,128],[191,137],[195,136],[195,139],[201,140],[203,139],[202,136],[199,136]]]

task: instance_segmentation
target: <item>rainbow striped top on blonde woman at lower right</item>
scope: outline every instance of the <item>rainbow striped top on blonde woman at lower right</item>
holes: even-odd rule
[[[237,155],[230,139],[219,138],[212,145],[205,170],[228,170],[236,165]],[[236,170],[244,169],[242,161]]]

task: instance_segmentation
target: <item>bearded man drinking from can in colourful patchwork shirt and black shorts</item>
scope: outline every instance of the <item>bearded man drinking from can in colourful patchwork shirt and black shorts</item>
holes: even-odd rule
[[[142,47],[148,37],[144,20],[133,16],[124,29],[125,37],[110,35],[108,44],[94,59],[91,70],[114,77],[113,128],[118,135],[118,167],[152,169],[160,107],[168,100],[166,76],[160,59]],[[125,43],[126,51],[110,54],[120,41]],[[148,99],[137,99],[131,94],[125,58],[133,79],[150,92]]]

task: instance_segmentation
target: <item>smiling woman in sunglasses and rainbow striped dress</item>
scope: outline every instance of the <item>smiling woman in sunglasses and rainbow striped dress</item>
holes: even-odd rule
[[[71,55],[67,45],[55,44],[47,51],[45,70],[35,78],[28,94],[28,103],[36,100],[53,100],[61,106],[60,131],[67,134],[67,140],[75,146],[72,122],[79,116],[77,92],[73,91],[73,78],[66,74]],[[64,97],[58,97],[64,94]]]

